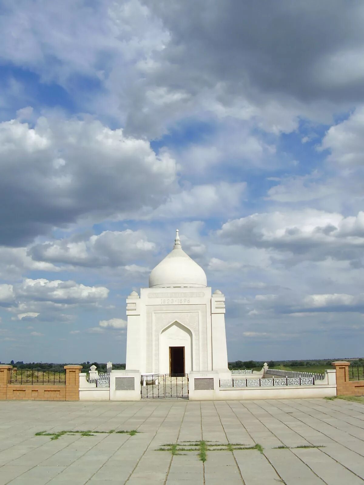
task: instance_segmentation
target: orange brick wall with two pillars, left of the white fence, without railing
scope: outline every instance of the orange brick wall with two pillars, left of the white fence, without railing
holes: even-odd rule
[[[9,384],[11,365],[0,365],[0,401],[29,399],[38,401],[79,401],[82,366],[66,365],[66,385]]]

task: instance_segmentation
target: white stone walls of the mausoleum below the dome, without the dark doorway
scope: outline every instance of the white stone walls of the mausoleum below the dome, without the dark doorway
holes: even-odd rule
[[[142,288],[127,299],[126,369],[169,374],[170,347],[184,348],[184,373],[227,372],[225,298],[211,288]]]

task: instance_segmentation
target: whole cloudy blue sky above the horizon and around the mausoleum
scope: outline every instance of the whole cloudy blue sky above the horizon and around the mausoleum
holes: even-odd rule
[[[364,4],[0,0],[0,361],[125,362],[182,248],[229,360],[364,339]]]

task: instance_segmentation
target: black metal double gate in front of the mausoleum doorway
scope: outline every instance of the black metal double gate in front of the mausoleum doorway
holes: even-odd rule
[[[188,374],[145,374],[141,376],[140,386],[142,399],[188,399]]]

